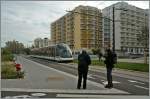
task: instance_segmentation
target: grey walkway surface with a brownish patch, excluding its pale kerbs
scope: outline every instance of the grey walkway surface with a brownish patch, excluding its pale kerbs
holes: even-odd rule
[[[25,71],[24,79],[2,80],[3,88],[31,88],[31,89],[76,89],[77,79],[63,72],[38,64],[36,62],[17,57]],[[93,84],[88,89],[101,89]]]

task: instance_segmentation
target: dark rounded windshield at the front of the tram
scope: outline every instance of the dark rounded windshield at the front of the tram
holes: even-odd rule
[[[62,58],[71,58],[72,57],[71,52],[65,46],[58,45],[57,52],[59,53],[59,56]]]

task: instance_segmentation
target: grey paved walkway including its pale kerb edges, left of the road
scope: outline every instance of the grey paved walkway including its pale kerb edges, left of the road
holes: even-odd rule
[[[24,79],[2,79],[1,86],[2,91],[46,91],[54,92],[61,90],[63,92],[94,92],[96,93],[122,93],[128,94],[127,92],[117,90],[115,88],[106,89],[104,85],[87,81],[87,90],[77,90],[77,77],[67,74],[62,71],[58,71],[53,68],[49,68],[45,65],[27,60],[21,56],[17,57],[17,62],[21,63],[23,70],[25,70]],[[39,90],[38,90],[39,89]],[[90,91],[91,90],[91,91]],[[97,91],[96,91],[97,90]]]

